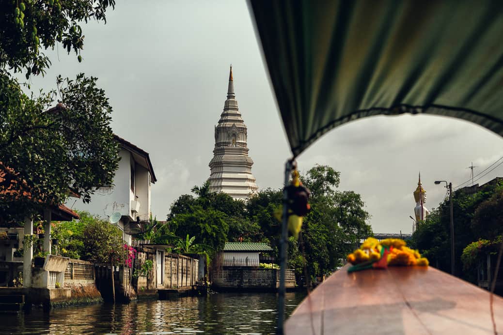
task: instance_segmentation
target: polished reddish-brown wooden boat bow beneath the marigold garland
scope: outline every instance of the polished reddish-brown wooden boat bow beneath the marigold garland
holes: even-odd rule
[[[294,310],[289,335],[493,333],[489,292],[432,267],[331,275]],[[498,332],[503,299],[494,295]]]

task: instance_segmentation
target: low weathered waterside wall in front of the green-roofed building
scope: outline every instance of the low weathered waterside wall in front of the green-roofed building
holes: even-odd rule
[[[248,267],[224,268],[213,273],[215,289],[276,290],[279,287],[279,270]],[[286,287],[295,287],[295,273],[286,270]]]

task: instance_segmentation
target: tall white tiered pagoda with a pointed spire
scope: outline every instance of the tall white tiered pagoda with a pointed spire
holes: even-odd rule
[[[209,164],[210,192],[225,192],[234,199],[246,199],[257,191],[246,140],[247,131],[237,107],[231,65],[227,99],[215,126],[215,149]]]

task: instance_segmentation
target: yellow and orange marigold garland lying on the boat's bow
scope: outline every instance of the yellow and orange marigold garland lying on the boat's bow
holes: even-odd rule
[[[386,269],[388,265],[397,266],[428,266],[428,259],[421,257],[417,250],[407,247],[401,239],[386,239],[378,241],[369,237],[360,246],[348,255],[348,262],[353,264],[348,272],[365,269]]]

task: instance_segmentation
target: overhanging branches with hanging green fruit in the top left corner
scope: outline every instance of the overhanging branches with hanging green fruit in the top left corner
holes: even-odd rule
[[[79,23],[94,19],[106,23],[105,13],[115,0],[2,0],[0,8],[0,68],[30,75],[44,74],[51,65],[40,48],[61,43],[81,61],[84,36]]]

